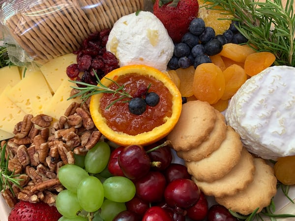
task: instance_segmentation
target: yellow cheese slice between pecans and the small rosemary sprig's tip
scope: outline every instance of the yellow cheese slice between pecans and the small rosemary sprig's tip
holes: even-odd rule
[[[80,98],[67,100],[70,97],[72,90],[71,86],[77,86],[75,83],[69,82],[68,79],[60,84],[53,98],[44,108],[44,113],[59,120],[60,116],[64,116],[64,111],[70,106],[72,102],[82,103]]]

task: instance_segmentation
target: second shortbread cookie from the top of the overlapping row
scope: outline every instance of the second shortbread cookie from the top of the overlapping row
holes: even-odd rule
[[[199,161],[219,148],[220,144],[226,137],[226,123],[224,115],[217,110],[215,112],[215,126],[209,134],[208,139],[188,151],[177,151],[178,157],[188,162]]]

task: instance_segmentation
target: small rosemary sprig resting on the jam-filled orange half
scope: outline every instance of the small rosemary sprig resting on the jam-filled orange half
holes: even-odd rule
[[[72,99],[72,98],[75,98],[75,97],[81,97],[82,101],[85,102],[89,97],[91,97],[92,95],[95,95],[95,94],[110,93],[110,94],[113,94],[113,96],[118,94],[119,98],[116,99],[115,101],[113,101],[111,104],[109,104],[106,107],[106,109],[109,109],[116,102],[118,102],[120,100],[123,100],[124,98],[132,98],[132,96],[128,92],[126,92],[124,90],[124,85],[119,85],[114,80],[106,78],[106,79],[108,79],[109,81],[115,83],[118,86],[118,88],[116,90],[114,90],[114,89],[111,89],[111,88],[107,87],[103,83],[101,83],[101,81],[99,80],[99,78],[98,78],[95,71],[94,71],[94,75],[95,75],[95,78],[96,78],[96,81],[97,81],[97,85],[69,80],[72,83],[80,84],[80,85],[83,85],[85,87],[71,86],[74,89],[80,90],[80,92],[73,95],[73,96],[71,96],[71,97],[69,97],[68,100]]]

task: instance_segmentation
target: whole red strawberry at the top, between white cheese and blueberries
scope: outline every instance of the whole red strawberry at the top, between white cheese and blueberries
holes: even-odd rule
[[[198,12],[198,0],[156,0],[153,5],[154,15],[161,20],[175,43],[181,41]]]

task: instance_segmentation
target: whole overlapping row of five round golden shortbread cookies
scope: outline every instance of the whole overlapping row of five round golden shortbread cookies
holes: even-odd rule
[[[192,180],[234,212],[260,212],[276,194],[273,168],[252,156],[222,113],[207,102],[189,101],[167,137],[185,161]]]

